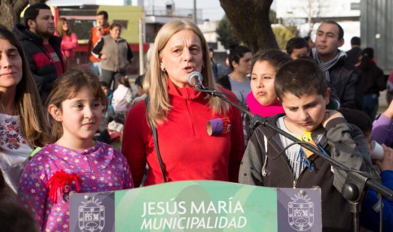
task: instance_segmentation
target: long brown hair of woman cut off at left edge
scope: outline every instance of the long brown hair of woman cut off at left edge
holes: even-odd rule
[[[33,147],[43,147],[49,141],[48,123],[43,114],[41,97],[30,71],[29,62],[16,37],[1,25],[0,38],[8,40],[14,45],[22,59],[22,79],[16,85],[14,98],[22,134]],[[0,105],[3,108],[3,105]]]

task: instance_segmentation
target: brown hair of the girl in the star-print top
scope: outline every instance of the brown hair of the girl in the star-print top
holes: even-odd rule
[[[64,100],[73,98],[81,89],[91,88],[93,95],[101,99],[103,112],[108,107],[108,99],[101,88],[98,77],[88,69],[73,68],[62,74],[53,84],[53,89],[48,96],[46,106],[56,106],[61,110],[61,104]],[[52,119],[51,114],[47,113],[48,120],[51,122],[51,143],[56,142],[63,135],[62,123]]]

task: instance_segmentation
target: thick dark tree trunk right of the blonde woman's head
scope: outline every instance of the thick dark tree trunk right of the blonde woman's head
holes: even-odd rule
[[[269,20],[273,0],[220,0],[236,35],[253,53],[259,49],[276,48]]]

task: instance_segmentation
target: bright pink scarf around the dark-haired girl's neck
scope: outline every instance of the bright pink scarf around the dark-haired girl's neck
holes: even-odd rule
[[[262,106],[255,99],[252,92],[250,92],[247,95],[246,101],[251,113],[258,114],[262,117],[270,117],[276,114],[285,113],[284,108],[282,108],[281,103],[278,99],[275,100],[270,106]]]

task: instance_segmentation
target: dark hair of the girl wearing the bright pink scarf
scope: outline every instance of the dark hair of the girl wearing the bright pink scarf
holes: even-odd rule
[[[276,72],[286,63],[292,61],[291,57],[277,49],[258,50],[252,58],[252,67],[256,62],[267,61],[272,65]]]

